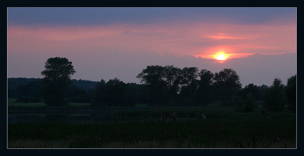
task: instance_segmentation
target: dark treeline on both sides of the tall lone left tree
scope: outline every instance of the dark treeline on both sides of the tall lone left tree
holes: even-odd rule
[[[296,102],[296,75],[288,79],[286,86],[275,78],[269,87],[248,84],[244,88],[233,69],[212,73],[206,69],[199,71],[197,67],[181,69],[173,65],[152,65],[136,77],[141,84],[125,83],[119,78],[107,82],[103,79],[98,82],[71,80],[66,99],[69,102],[89,102],[92,106],[133,106],[136,103],[204,106],[213,101],[222,101],[222,106],[236,106],[240,101],[248,101],[248,97],[251,101],[266,101],[270,105],[280,103],[279,107]],[[17,102],[43,101],[41,88],[40,79],[8,78],[8,98],[18,98]]]

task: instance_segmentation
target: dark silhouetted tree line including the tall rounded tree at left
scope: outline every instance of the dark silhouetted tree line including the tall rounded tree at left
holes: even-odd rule
[[[76,71],[67,58],[49,58],[41,72],[41,81],[18,86],[23,90],[16,101],[47,105],[69,105],[69,102],[90,102],[91,106],[205,106],[221,101],[221,106],[234,106],[237,111],[252,111],[255,101],[264,101],[272,111],[282,111],[288,104],[296,109],[296,75],[287,85],[275,78],[271,86],[248,84],[242,88],[239,75],[225,68],[218,73],[197,67],[177,68],[173,65],[151,65],[136,78],[141,84],[124,83],[119,78],[98,81],[94,88],[83,89],[71,85]],[[17,87],[17,88],[18,88]],[[23,87],[23,88],[22,88]]]

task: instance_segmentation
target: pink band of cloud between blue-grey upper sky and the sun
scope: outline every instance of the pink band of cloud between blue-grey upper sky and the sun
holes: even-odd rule
[[[47,47],[47,48],[45,48]],[[181,25],[19,26],[8,28],[10,51],[165,51],[206,57],[218,51],[271,53],[296,51],[296,26]],[[207,57],[208,58],[208,57]]]

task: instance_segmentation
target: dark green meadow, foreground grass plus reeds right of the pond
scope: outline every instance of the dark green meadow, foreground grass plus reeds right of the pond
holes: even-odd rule
[[[28,104],[29,105],[29,104]],[[81,104],[79,104],[81,105]],[[82,104],[85,105],[85,104]],[[8,106],[20,107],[24,106]],[[37,107],[37,106],[33,106]],[[71,108],[81,106],[71,106]],[[87,107],[87,106],[86,106]],[[66,108],[68,109],[68,108]],[[100,109],[100,108],[98,108]],[[296,114],[271,119],[233,107],[108,107],[110,121],[17,122],[7,125],[8,148],[296,148]],[[200,111],[206,114],[203,119]],[[176,112],[177,120],[170,113]],[[161,120],[165,115],[165,121]],[[187,118],[188,115],[188,118]]]

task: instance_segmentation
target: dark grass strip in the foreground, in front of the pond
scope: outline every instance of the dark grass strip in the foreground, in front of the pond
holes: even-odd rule
[[[296,148],[295,121],[278,121],[12,123],[8,148]]]

